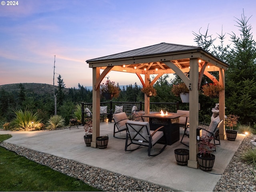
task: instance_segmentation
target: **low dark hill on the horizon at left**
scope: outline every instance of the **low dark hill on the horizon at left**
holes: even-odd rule
[[[57,86],[43,83],[22,83],[27,93],[46,94],[53,93],[53,88],[57,89]],[[20,91],[19,83],[0,85],[0,89],[4,88],[7,92]],[[64,91],[68,92],[68,88],[64,88]]]

